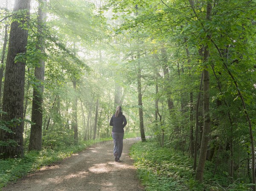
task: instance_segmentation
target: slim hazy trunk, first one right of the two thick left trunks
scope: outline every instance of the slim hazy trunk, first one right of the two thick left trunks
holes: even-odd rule
[[[72,105],[72,123],[71,127],[74,130],[74,142],[78,143],[78,126],[77,126],[77,95],[76,95],[76,81],[73,81],[73,89],[75,92],[75,96],[73,98]]]

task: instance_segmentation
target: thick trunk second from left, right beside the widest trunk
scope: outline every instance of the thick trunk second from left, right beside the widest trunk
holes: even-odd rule
[[[46,3],[46,1],[45,1]],[[44,7],[43,2],[39,2],[39,7]],[[43,26],[46,22],[46,12],[38,9],[38,49],[44,53],[44,37],[42,34]],[[36,86],[33,89],[32,115],[31,115],[31,131],[29,139],[29,151],[41,150],[42,148],[42,123],[43,123],[43,93],[44,93],[44,59],[40,59],[38,66],[35,66]]]

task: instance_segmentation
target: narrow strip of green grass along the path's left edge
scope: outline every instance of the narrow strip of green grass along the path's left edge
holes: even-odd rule
[[[104,140],[109,139],[111,138],[106,138]],[[54,150],[45,149],[42,151],[30,151],[25,153],[23,158],[0,160],[0,191],[9,182],[26,176],[43,166],[63,160],[64,158],[95,144],[95,142],[100,141],[103,141],[103,139],[83,141],[77,145],[66,145],[55,148]]]

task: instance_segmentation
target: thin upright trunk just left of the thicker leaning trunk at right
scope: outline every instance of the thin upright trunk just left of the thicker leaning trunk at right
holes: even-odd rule
[[[198,125],[199,125],[199,107],[200,107],[200,100],[201,100],[201,91],[203,85],[203,74],[201,75],[200,86],[199,86],[199,93],[198,93],[198,100],[196,103],[196,111],[195,111],[195,145],[194,145],[194,170],[196,170],[196,162],[197,162],[197,150],[198,150]]]

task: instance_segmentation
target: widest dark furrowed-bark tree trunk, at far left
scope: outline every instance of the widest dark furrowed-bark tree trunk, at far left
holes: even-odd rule
[[[29,0],[17,0],[17,4],[24,2],[26,7],[15,7],[15,11],[27,9],[25,17],[29,18],[30,3]],[[26,53],[28,30],[20,25],[26,25],[26,20],[12,22],[10,29],[9,48],[6,59],[6,76],[3,88],[3,111],[7,114],[2,116],[3,121],[12,119],[23,119],[23,101],[25,86],[25,61],[15,62],[17,54]],[[23,129],[21,124],[15,122],[8,127],[14,132],[9,133],[0,130],[0,141],[8,142],[14,140],[15,144],[0,146],[0,158],[23,156]]]

